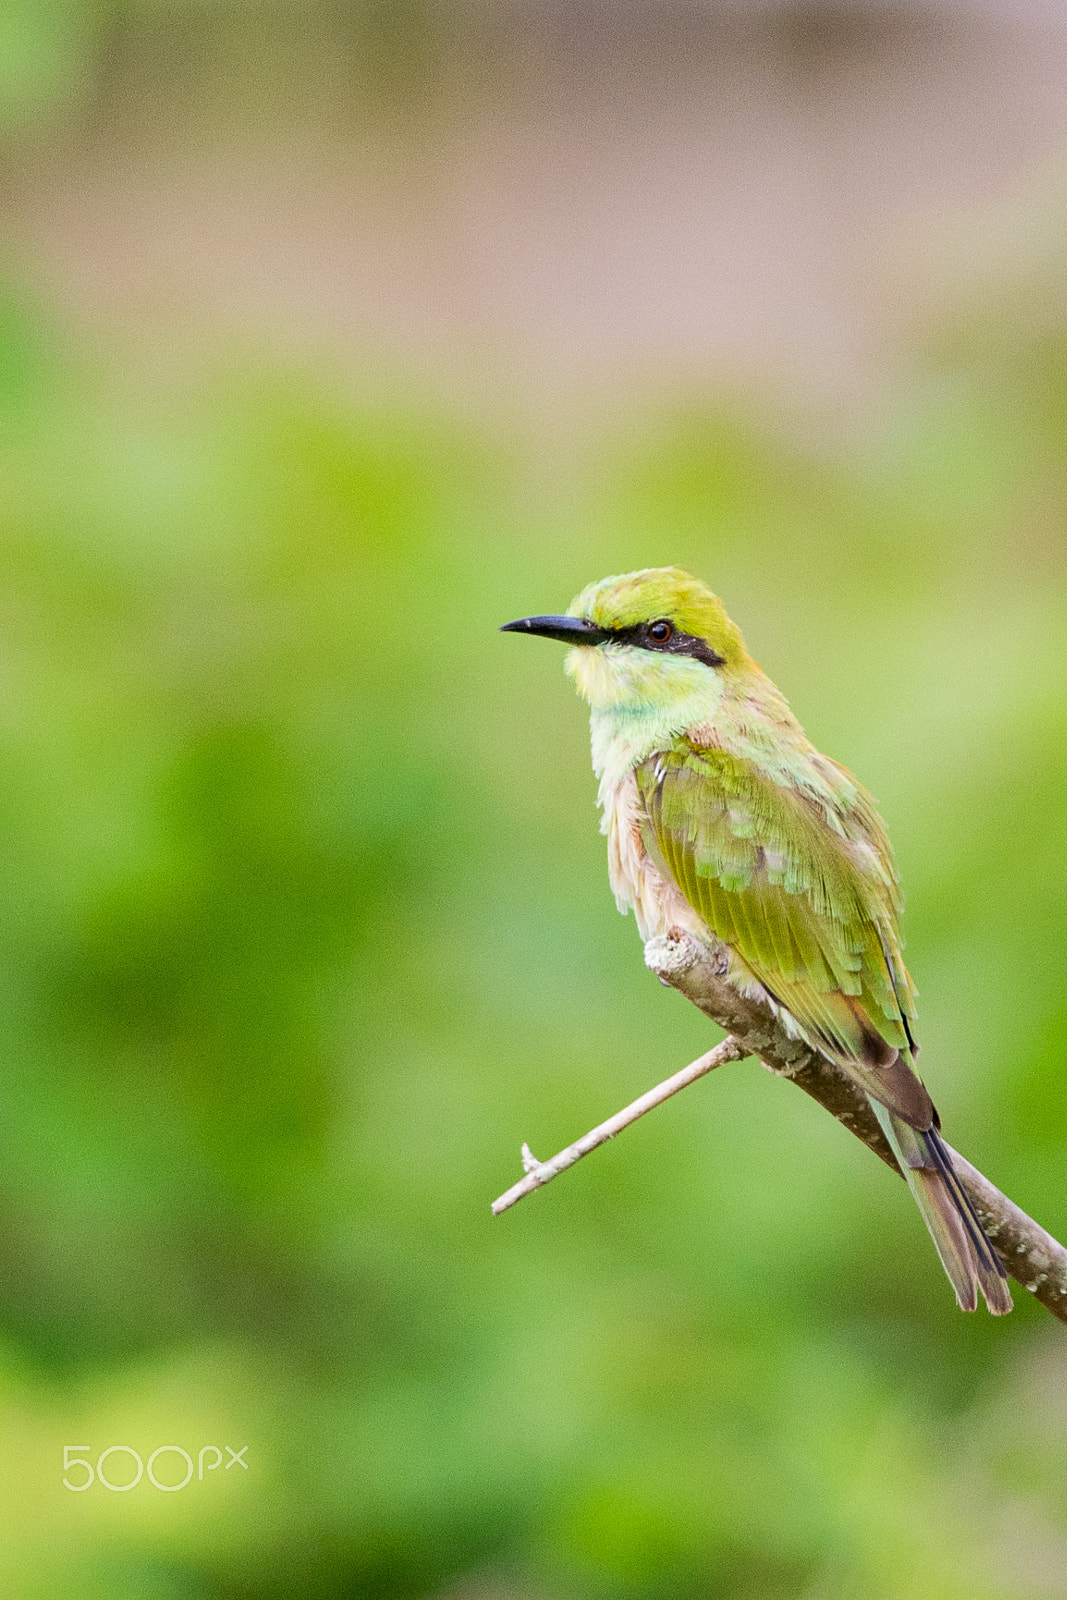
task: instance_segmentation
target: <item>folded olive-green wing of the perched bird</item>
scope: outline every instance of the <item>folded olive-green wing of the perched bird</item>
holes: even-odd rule
[[[811,1042],[928,1126],[889,845],[865,790],[817,762],[817,782],[782,784],[681,741],[637,768],[645,843]]]

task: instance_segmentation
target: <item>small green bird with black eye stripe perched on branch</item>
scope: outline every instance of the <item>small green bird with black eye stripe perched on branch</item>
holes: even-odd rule
[[[573,646],[590,710],[608,875],[643,941],[681,928],[726,958],[867,1096],[963,1310],[1011,1310],[917,1072],[902,898],[877,805],[806,738],[723,602],[678,566],[603,578],[501,632]]]

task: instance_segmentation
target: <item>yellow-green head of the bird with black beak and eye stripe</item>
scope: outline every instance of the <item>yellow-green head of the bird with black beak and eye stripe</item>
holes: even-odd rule
[[[528,616],[502,632],[574,645],[566,670],[597,710],[662,709],[720,699],[749,666],[741,629],[718,595],[680,566],[601,578],[563,616]]]

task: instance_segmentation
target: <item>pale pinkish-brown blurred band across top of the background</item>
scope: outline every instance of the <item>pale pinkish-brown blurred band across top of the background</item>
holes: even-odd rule
[[[1025,259],[1065,149],[1053,3],[134,5],[11,147],[3,221],[157,358],[253,336],[534,406],[665,370],[833,411],[998,230]]]

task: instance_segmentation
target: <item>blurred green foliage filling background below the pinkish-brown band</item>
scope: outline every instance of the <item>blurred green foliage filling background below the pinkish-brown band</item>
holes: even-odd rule
[[[670,560],[878,794],[945,1126],[1067,1226],[1062,378],[979,330],[851,454],[697,397],[557,482],[414,386],[0,331],[5,1595],[1064,1592],[1061,1333],[960,1317],[787,1085],[488,1213],[709,1043],[496,632]],[[67,1443],[251,1469],[77,1494]]]

